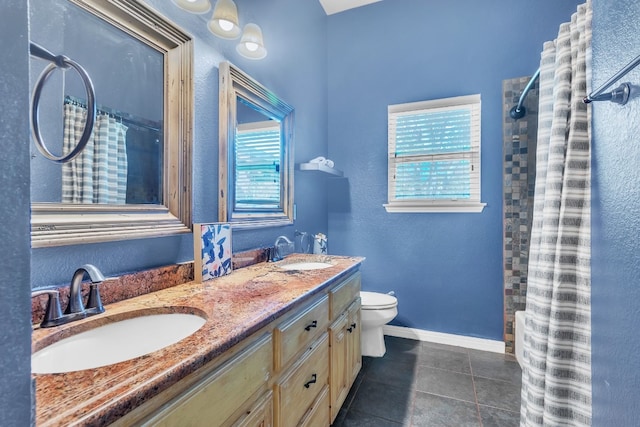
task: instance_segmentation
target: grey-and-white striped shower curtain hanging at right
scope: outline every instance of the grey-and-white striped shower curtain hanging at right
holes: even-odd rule
[[[521,427],[591,425],[590,45],[588,0],[541,57]]]

